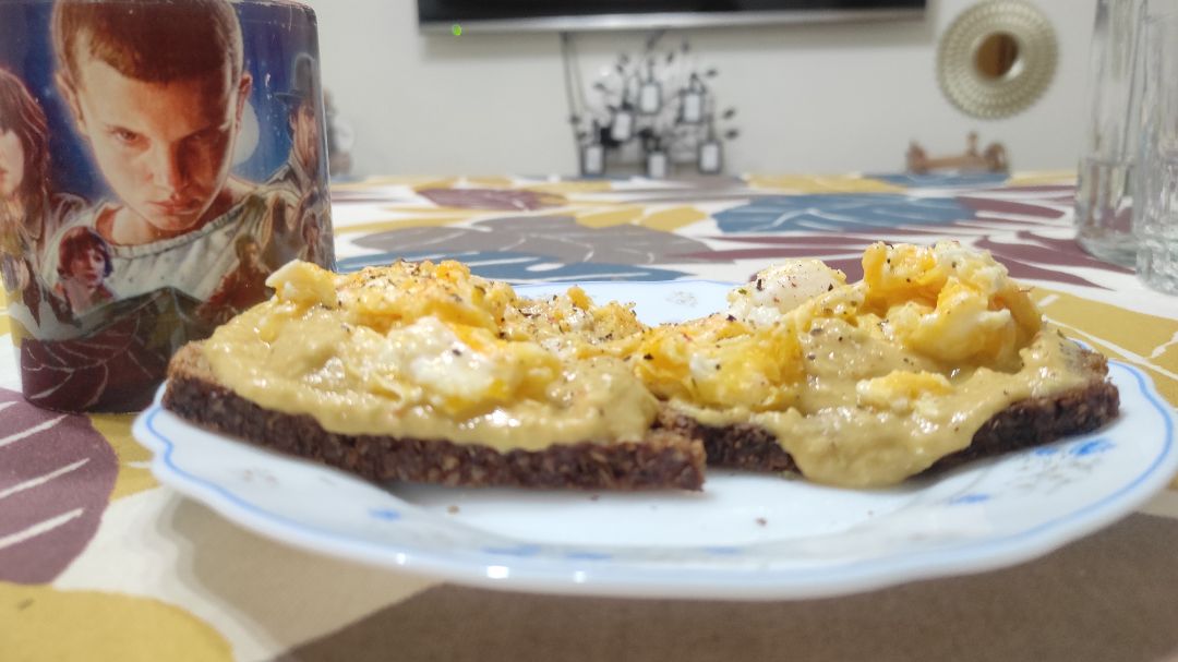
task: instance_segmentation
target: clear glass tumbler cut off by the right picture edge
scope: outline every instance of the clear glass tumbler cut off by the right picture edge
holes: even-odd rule
[[[1141,32],[1141,131],[1134,168],[1137,274],[1178,294],[1178,12],[1151,14]]]

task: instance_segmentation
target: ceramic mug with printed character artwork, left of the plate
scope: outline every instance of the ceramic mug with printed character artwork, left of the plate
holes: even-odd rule
[[[25,397],[134,411],[188,340],[335,263],[315,13],[0,0],[0,276]]]

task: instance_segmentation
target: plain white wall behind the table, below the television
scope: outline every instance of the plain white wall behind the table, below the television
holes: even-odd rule
[[[571,173],[556,34],[422,35],[415,0],[310,0],[324,84],[357,133],[359,174]],[[739,108],[729,172],[899,171],[909,140],[929,155],[1002,141],[1017,170],[1074,167],[1096,0],[1038,0],[1059,38],[1047,93],[1004,120],[957,111],[937,85],[937,42],[971,0],[929,0],[924,21],[717,28],[689,38]],[[582,77],[641,33],[578,35]],[[588,85],[588,82],[587,82]]]

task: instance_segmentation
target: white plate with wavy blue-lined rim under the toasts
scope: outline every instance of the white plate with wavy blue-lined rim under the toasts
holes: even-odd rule
[[[721,309],[729,285],[584,287],[664,322]],[[1140,371],[1113,363],[1111,375],[1123,412],[1107,429],[876,491],[724,471],[702,494],[384,490],[158,404],[134,433],[161,483],[323,554],[511,590],[800,598],[1010,565],[1131,512],[1178,470],[1174,418]]]

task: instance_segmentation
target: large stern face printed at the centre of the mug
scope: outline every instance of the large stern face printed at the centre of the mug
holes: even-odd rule
[[[115,196],[164,232],[198,225],[229,178],[249,75],[145,82],[93,58],[78,73],[62,88]]]

